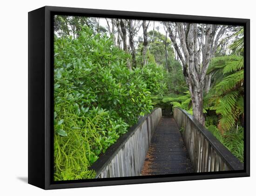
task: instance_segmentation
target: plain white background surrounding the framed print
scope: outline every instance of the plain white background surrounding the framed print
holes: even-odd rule
[[[3,0],[0,3],[0,195],[241,196],[255,192],[256,14],[252,0]],[[251,19],[251,177],[40,190],[27,184],[27,12],[70,6]],[[254,182],[253,182],[254,181]],[[255,194],[255,193],[254,193]]]

